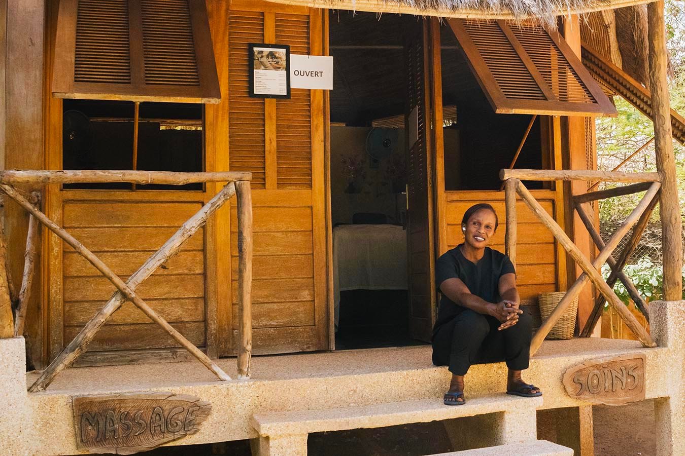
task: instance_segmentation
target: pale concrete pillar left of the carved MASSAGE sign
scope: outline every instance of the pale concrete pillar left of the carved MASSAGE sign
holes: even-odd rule
[[[0,339],[0,448],[3,455],[34,455],[32,408],[26,390],[23,337]]]

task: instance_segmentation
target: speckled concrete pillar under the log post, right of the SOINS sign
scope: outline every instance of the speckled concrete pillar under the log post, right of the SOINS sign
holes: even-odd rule
[[[649,304],[651,335],[660,347],[668,347],[669,397],[654,401],[656,455],[685,455],[685,301]]]

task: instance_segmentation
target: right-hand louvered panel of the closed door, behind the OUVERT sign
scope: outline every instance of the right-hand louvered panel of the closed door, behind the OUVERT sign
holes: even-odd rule
[[[276,14],[276,42],[290,44],[291,54],[309,55],[309,16]],[[312,188],[311,96],[291,89],[290,99],[276,100],[277,188]]]

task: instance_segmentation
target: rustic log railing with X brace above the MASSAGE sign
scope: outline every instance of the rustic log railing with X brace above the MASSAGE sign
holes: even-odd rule
[[[149,319],[160,325],[179,345],[190,351],[199,362],[204,364],[216,377],[223,381],[229,377],[215,362],[195,347],[190,340],[175,330],[160,315],[155,312],[145,301],[136,294],[136,289],[169,258],[181,250],[181,246],[192,237],[197,230],[207,223],[212,213],[219,209],[227,200],[236,195],[238,205],[238,336],[240,345],[238,349],[238,377],[246,378],[250,375],[250,357],[252,351],[252,323],[251,323],[251,284],[252,284],[252,198],[250,191],[251,173],[249,172],[153,172],[153,171],[42,171],[42,170],[12,170],[0,172],[0,191],[15,200],[30,214],[29,233],[26,242],[26,262],[21,290],[18,299],[16,318],[14,319],[14,336],[23,333],[29,291],[34,276],[34,265],[38,252],[38,222],[47,226],[60,239],[71,245],[73,249],[86,258],[100,273],[105,276],[117,291],[109,301],[95,314],[77,336],[64,347],[62,352],[40,373],[38,379],[29,388],[29,391],[42,391],[53,381],[56,375],[69,367],[78,356],[86,351],[88,343],[95,338],[97,332],[105,322],[126,301],[132,301]],[[37,188],[45,184],[66,183],[131,183],[131,184],[164,184],[185,185],[189,183],[226,182],[227,184],[216,193],[195,215],[190,217],[160,249],[152,254],[138,270],[128,278],[126,282],[121,280],[110,267],[93,254],[87,247],[77,241],[64,228],[55,224],[42,213],[37,207],[38,197],[36,193],[25,196],[15,185]],[[4,239],[0,241],[0,254],[4,254]],[[1,265],[0,266],[4,266]],[[0,316],[3,312],[3,302],[10,301],[14,297],[16,289],[7,282],[9,274],[5,268],[0,271]],[[5,283],[3,283],[5,282]],[[3,293],[3,291],[5,293]],[[11,296],[10,296],[11,295]],[[10,310],[11,317],[11,310]]]

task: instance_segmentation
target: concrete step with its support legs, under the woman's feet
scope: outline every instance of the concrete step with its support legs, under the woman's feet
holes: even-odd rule
[[[421,399],[325,410],[255,414],[252,425],[259,433],[260,456],[305,456],[307,435],[312,432],[388,427],[409,423],[449,420],[495,414],[493,442],[499,445],[536,440],[536,410],[542,397],[507,394],[469,397],[464,405],[445,405],[443,399]]]

